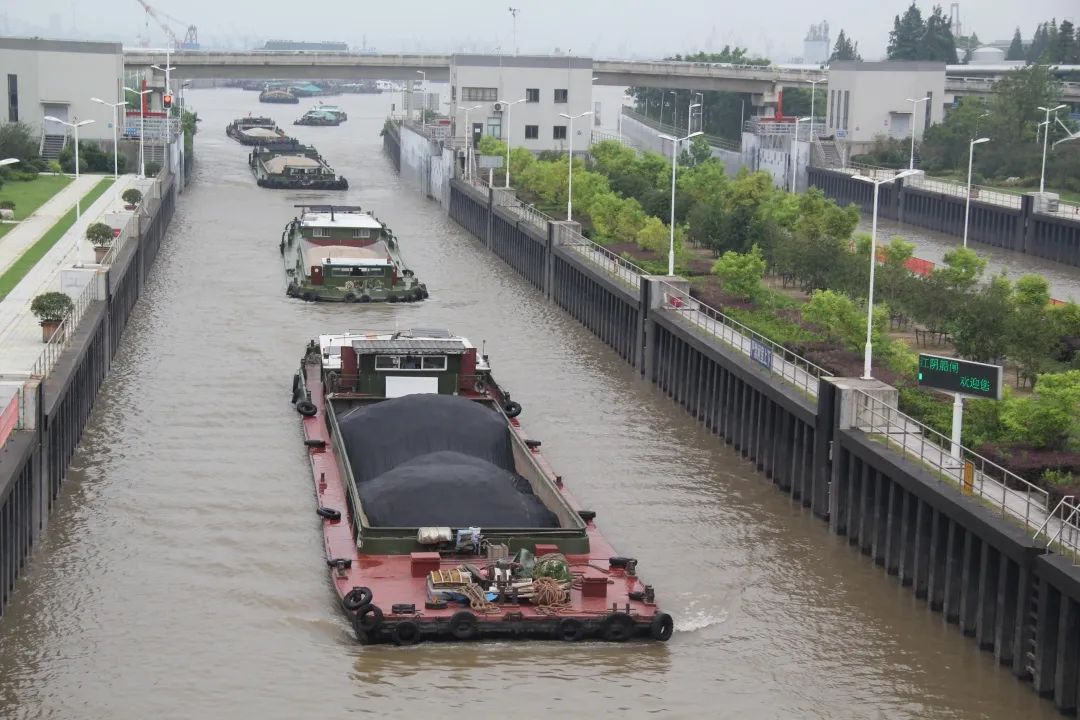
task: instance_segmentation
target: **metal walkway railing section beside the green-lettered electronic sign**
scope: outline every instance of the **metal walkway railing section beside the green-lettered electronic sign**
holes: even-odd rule
[[[862,390],[854,393],[855,429],[880,436],[888,446],[929,465],[940,481],[981,498],[997,508],[1002,518],[1012,516],[1036,531],[1045,524],[1050,514],[1050,493],[1045,490],[962,445],[957,448],[959,457],[954,457],[950,438],[879,397]],[[971,463],[973,471],[969,483],[964,481],[967,463]]]

